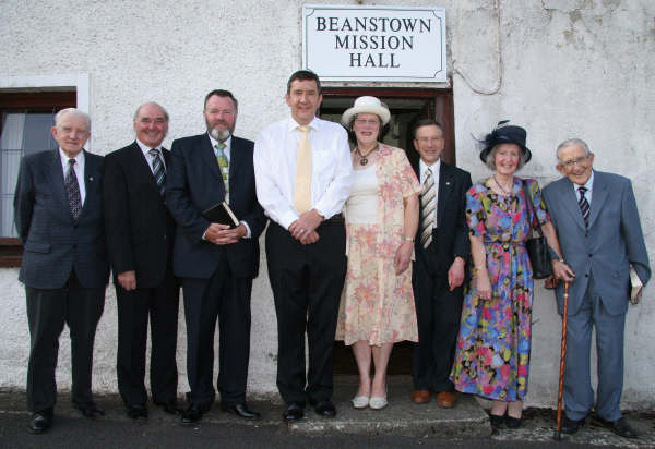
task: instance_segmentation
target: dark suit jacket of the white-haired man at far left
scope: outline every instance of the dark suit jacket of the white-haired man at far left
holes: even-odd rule
[[[102,182],[103,157],[84,151],[86,197],[75,222],[59,149],[23,158],[14,196],[14,221],[24,244],[21,282],[35,289],[60,289],[74,269],[82,287],[107,284]]]

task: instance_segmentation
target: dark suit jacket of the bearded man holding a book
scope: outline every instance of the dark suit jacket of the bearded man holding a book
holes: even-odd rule
[[[174,271],[178,277],[209,279],[225,252],[231,272],[254,278],[259,271],[259,236],[266,225],[257,201],[253,143],[231,137],[229,205],[239,220],[250,227],[251,238],[230,245],[202,240],[211,225],[201,213],[224,201],[225,185],[209,135],[178,138],[172,143],[166,178],[166,203],[177,222]]]

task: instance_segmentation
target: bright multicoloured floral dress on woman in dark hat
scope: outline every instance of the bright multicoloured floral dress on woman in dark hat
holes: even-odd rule
[[[539,184],[525,180],[539,223],[550,221]],[[451,380],[458,391],[501,401],[522,400],[529,373],[533,278],[524,242],[531,234],[522,180],[512,194],[485,184],[466,193],[471,235],[483,238],[492,299],[478,296],[474,274],[462,310]]]

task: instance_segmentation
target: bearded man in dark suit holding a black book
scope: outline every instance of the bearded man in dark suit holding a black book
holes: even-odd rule
[[[181,278],[187,321],[187,374],[191,391],[183,424],[200,421],[214,401],[214,330],[219,326],[221,408],[247,420],[250,293],[259,269],[259,241],[266,219],[257,202],[253,143],[233,136],[237,99],[212,90],[204,101],[207,132],[176,139],[166,203],[177,231],[174,272]],[[203,210],[225,201],[238,227],[210,222]]]

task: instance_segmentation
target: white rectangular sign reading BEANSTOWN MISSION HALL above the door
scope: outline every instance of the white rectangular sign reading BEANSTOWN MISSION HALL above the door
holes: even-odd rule
[[[306,4],[302,66],[323,81],[445,83],[445,10]]]

